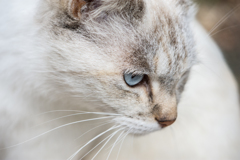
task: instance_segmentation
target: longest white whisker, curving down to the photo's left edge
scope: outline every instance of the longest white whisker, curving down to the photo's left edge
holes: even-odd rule
[[[72,124],[77,124],[77,123],[82,123],[82,122],[88,122],[88,121],[95,121],[95,120],[99,120],[99,119],[107,119],[107,118],[112,118],[112,117],[113,117],[113,116],[101,117],[101,118],[93,118],[93,119],[86,119],[86,120],[76,121],[76,122],[72,122],[72,123],[67,123],[67,124],[61,125],[61,126],[59,126],[59,127],[55,127],[55,128],[53,128],[53,129],[51,129],[51,130],[49,130],[49,131],[47,131],[47,132],[44,132],[44,133],[42,133],[42,134],[40,134],[40,135],[38,135],[38,136],[36,136],[36,137],[33,137],[33,138],[29,139],[29,140],[26,140],[26,141],[24,141],[24,142],[21,142],[21,143],[18,143],[18,144],[16,144],[16,145],[9,146],[9,147],[6,147],[6,148],[1,148],[0,151],[1,151],[1,150],[5,150],[5,149],[9,149],[9,148],[13,148],[13,147],[17,147],[17,146],[19,146],[19,145],[22,145],[22,144],[24,144],[24,143],[27,143],[27,142],[29,142],[29,141],[32,141],[32,140],[34,140],[34,139],[36,139],[36,138],[38,138],[38,137],[41,137],[41,136],[43,136],[43,135],[45,135],[45,134],[47,134],[47,133],[50,133],[50,132],[52,132],[52,131],[55,131],[55,130],[57,130],[57,129],[60,129],[60,128],[63,128],[63,127],[66,127],[66,126],[69,126],[69,125],[72,125]]]

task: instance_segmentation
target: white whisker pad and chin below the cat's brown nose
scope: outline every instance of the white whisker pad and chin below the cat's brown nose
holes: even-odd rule
[[[116,125],[124,128],[126,132],[134,135],[146,135],[162,129],[155,121],[146,122],[128,117],[118,117],[113,119],[113,121]]]

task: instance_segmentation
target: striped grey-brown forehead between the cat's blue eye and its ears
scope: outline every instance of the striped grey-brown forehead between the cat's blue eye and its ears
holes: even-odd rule
[[[160,75],[182,73],[192,66],[195,52],[188,19],[179,6],[169,3],[145,2],[141,22],[122,27],[126,33],[118,34],[116,45],[125,58],[118,62],[121,66],[124,63],[130,71]]]

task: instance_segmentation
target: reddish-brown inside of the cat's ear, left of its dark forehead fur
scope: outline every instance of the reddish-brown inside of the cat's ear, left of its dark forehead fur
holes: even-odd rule
[[[63,0],[62,3],[68,14],[80,20],[82,16],[101,5],[101,0]]]

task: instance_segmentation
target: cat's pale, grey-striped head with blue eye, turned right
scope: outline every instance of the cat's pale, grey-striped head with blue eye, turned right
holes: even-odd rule
[[[48,62],[58,88],[120,114],[134,134],[172,124],[195,61],[183,0],[49,0]],[[50,26],[50,27],[49,27]],[[87,100],[86,100],[87,101]],[[79,104],[79,108],[81,108]]]

